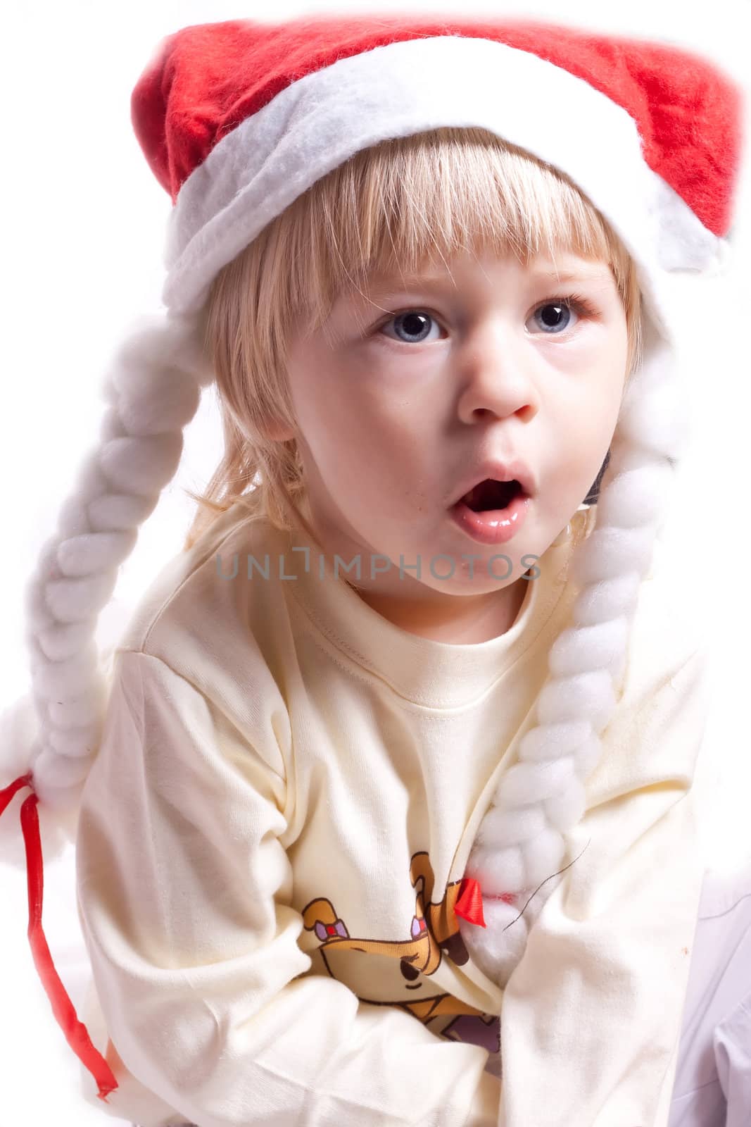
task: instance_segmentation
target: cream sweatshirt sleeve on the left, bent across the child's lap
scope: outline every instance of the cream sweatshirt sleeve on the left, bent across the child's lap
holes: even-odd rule
[[[311,959],[279,842],[284,771],[267,758],[166,663],[117,654],[77,841],[117,1055],[200,1127],[495,1127],[484,1049],[297,977]]]

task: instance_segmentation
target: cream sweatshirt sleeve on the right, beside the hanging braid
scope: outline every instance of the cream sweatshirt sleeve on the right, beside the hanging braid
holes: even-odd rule
[[[703,879],[706,656],[635,686],[602,735],[579,860],[506,988],[504,1127],[668,1122]]]

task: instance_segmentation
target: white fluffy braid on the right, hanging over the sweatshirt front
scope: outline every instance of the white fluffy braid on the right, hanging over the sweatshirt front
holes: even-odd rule
[[[547,878],[564,868],[564,835],[584,813],[584,782],[600,760],[599,736],[623,687],[638,586],[687,436],[674,355],[645,321],[644,360],[624,396],[596,526],[571,558],[573,624],[551,647],[537,722],[519,743],[518,762],[500,778],[466,867],[466,876],[480,881],[486,928],[459,917],[459,930],[476,965],[500,986],[563,879]],[[509,893],[516,894],[508,897],[512,903],[488,898]]]

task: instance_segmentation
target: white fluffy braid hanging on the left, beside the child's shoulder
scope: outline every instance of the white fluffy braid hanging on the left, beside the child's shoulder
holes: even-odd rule
[[[197,319],[137,318],[105,380],[109,406],[99,445],[26,587],[32,694],[20,703],[28,713],[33,701],[37,718],[26,769],[33,769],[39,808],[62,819],[78,809],[101,739],[107,689],[95,642],[99,612],[138,526],[177,471],[182,428],[212,379]]]

